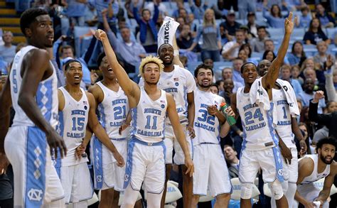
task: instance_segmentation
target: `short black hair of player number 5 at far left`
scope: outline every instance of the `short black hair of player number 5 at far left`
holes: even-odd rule
[[[31,26],[31,23],[36,21],[37,16],[46,15],[48,14],[48,11],[45,9],[39,9],[39,8],[33,8],[33,9],[27,9],[21,14],[20,17],[20,28],[23,33],[23,35],[26,36],[25,29],[29,28]]]

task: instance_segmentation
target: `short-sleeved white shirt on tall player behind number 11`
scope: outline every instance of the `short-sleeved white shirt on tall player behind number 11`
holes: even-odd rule
[[[139,80],[139,86],[144,86],[143,79]],[[158,87],[172,94],[176,102],[180,122],[181,124],[187,124],[187,94],[196,90],[196,81],[191,72],[178,65],[174,65],[172,72],[161,72]],[[169,123],[169,119],[166,120],[166,123]]]

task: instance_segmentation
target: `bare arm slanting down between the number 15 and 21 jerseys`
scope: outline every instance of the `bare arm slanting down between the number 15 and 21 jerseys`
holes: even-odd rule
[[[97,119],[96,115],[96,102],[94,96],[90,92],[86,92],[87,99],[90,104],[89,109],[89,116],[88,116],[88,125],[93,133],[95,133],[95,136],[112,152],[112,155],[114,155],[114,158],[117,160],[118,166],[123,167],[124,166],[124,159],[122,155],[119,154],[117,148],[114,146],[114,144],[110,141],[109,136],[107,136],[107,132],[102,127],[100,122]]]

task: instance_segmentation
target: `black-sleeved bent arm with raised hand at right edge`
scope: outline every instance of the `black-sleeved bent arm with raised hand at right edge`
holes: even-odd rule
[[[337,138],[337,111],[333,111],[331,114],[321,114],[319,112],[319,104],[322,100],[324,100],[323,91],[316,92],[314,99],[310,102],[309,119],[328,127],[328,135]]]

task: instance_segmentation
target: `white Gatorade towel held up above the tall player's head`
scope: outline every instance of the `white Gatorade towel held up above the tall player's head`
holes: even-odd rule
[[[173,18],[166,16],[158,32],[158,49],[164,43],[169,43],[173,46],[173,37],[176,35],[176,30],[180,24],[174,21]]]

